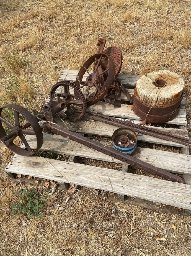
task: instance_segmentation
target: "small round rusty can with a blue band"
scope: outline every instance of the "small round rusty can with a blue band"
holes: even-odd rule
[[[137,135],[131,129],[119,128],[112,135],[113,148],[131,155],[137,147]]]

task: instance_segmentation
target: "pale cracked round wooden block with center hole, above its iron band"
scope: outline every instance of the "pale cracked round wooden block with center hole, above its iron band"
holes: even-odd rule
[[[168,70],[159,70],[142,75],[136,83],[134,95],[143,104],[160,108],[178,101],[183,93],[184,80]]]

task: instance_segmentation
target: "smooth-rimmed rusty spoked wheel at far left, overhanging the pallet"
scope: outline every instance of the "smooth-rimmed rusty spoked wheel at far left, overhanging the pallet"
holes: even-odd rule
[[[14,121],[9,121],[10,116],[14,116]],[[36,135],[35,150],[31,149],[26,141],[24,135],[27,134]],[[20,148],[14,143],[17,137],[20,138],[25,148]],[[24,156],[33,155],[43,144],[43,134],[37,119],[28,110],[16,104],[8,104],[0,108],[0,139],[7,148]]]

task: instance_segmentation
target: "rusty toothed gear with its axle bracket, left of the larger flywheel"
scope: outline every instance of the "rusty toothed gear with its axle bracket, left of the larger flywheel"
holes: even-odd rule
[[[71,96],[69,88],[74,89],[77,94],[76,98]],[[85,96],[74,83],[69,81],[60,81],[51,88],[50,102],[44,106],[46,120],[53,121],[53,116],[64,108],[66,108],[65,115],[64,113],[60,113],[60,115],[68,121],[80,120],[87,108]],[[75,111],[76,109],[78,111]]]

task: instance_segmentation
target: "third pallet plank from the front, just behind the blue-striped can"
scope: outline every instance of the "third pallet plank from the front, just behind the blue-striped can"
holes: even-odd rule
[[[55,120],[58,125],[66,129],[69,129],[70,131],[75,131],[75,132],[89,134],[89,135],[99,135],[99,136],[101,135],[105,137],[112,137],[112,134],[114,133],[114,131],[119,128],[114,125],[105,124],[97,121],[78,121],[75,124],[71,124],[69,122],[60,120],[58,117],[56,117]],[[166,128],[164,128],[164,130],[166,130]],[[174,132],[176,132],[176,130],[177,129],[173,129]],[[161,144],[161,145],[186,147],[176,142],[162,140],[149,135],[139,134],[138,140],[142,142],[149,142],[149,143],[155,143],[155,144]]]

